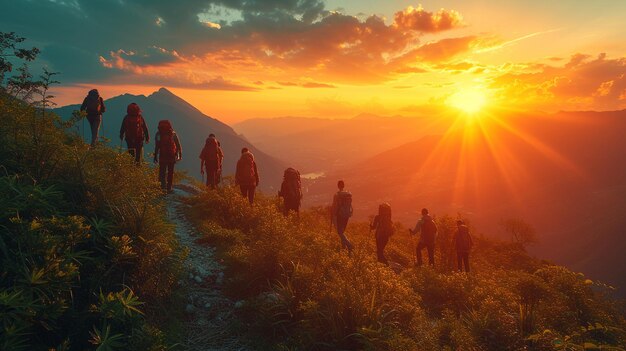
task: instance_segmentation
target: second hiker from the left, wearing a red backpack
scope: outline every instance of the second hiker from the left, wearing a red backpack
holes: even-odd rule
[[[140,164],[143,157],[143,142],[150,142],[148,126],[141,115],[141,108],[136,103],[131,103],[126,108],[126,116],[120,127],[120,139],[126,138],[128,153],[135,157],[135,163]]]

